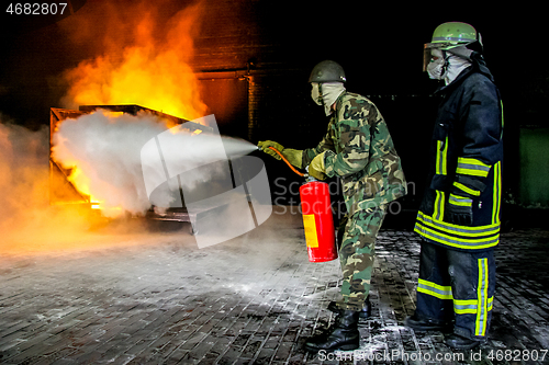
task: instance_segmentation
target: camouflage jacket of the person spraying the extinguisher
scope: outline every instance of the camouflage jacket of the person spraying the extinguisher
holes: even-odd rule
[[[304,150],[303,166],[324,151],[326,174],[341,179],[349,216],[406,194],[401,159],[385,119],[367,98],[344,92],[337,99],[326,136]]]

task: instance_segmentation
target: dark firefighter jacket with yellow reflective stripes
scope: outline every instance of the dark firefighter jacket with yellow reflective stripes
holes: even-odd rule
[[[430,146],[427,187],[415,231],[436,244],[480,251],[500,241],[503,109],[500,91],[481,58],[442,98]],[[445,212],[472,209],[472,224],[449,223]]]

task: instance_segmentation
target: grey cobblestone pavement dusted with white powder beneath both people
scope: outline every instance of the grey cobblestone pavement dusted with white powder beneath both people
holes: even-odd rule
[[[109,239],[0,256],[1,364],[549,363],[546,230],[503,235],[492,331],[473,352],[402,326],[414,311],[419,243],[383,230],[360,351],[317,356],[302,345],[332,319],[339,267],[307,261],[300,216],[273,215],[202,250],[187,229]]]

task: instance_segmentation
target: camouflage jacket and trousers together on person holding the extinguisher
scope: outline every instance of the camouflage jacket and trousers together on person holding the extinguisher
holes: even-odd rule
[[[341,309],[360,310],[370,290],[374,243],[386,205],[406,194],[406,180],[388,126],[365,96],[344,92],[328,132],[303,152],[302,166],[324,155],[325,173],[339,176],[348,221],[339,249],[344,282]]]

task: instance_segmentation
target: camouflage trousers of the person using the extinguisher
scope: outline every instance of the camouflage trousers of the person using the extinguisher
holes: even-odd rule
[[[339,247],[343,299],[337,301],[337,306],[341,309],[361,310],[365,306],[370,292],[376,238],[385,212],[386,204],[368,210],[359,210],[345,224]]]

